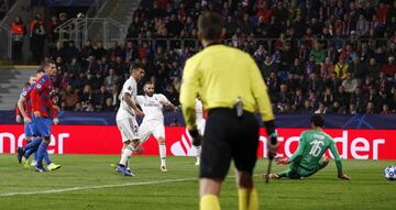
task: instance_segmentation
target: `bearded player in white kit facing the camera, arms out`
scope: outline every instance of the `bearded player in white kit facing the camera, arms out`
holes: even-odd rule
[[[144,96],[136,97],[138,104],[144,113],[143,122],[139,128],[140,141],[143,144],[151,135],[154,135],[158,142],[161,170],[167,172],[163,107],[175,110],[175,106],[164,95],[154,93],[154,84],[151,81],[144,85],[143,90]]]

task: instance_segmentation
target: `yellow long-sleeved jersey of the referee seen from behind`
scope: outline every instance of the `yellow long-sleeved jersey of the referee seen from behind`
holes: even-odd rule
[[[258,107],[263,121],[274,120],[267,88],[255,62],[237,48],[211,45],[187,59],[180,103],[189,130],[196,129],[197,95],[207,111],[233,108],[241,97],[243,110],[255,112]]]

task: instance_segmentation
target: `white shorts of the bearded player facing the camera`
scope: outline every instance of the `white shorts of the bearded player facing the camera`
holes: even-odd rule
[[[156,140],[158,137],[165,139],[165,126],[163,122],[156,122],[156,121],[144,121],[139,128],[139,136],[141,140],[141,143],[148,140],[150,135],[154,135]]]

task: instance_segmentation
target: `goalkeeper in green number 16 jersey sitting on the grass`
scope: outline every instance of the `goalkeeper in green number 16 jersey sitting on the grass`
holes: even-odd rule
[[[277,164],[289,165],[289,169],[278,174],[263,174],[263,178],[270,176],[271,179],[279,179],[282,177],[299,179],[312,176],[329,164],[329,159],[323,154],[330,148],[331,154],[334,156],[338,177],[350,180],[351,178],[342,172],[341,158],[333,139],[322,131],[323,124],[323,117],[314,114],[311,118],[312,130],[301,133],[298,148],[292,157],[275,158]]]

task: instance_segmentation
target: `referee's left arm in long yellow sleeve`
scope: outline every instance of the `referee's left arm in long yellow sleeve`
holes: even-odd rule
[[[196,124],[196,98],[199,86],[199,77],[196,65],[191,59],[186,62],[183,70],[183,82],[180,87],[180,103],[184,119],[189,131],[197,130]]]

